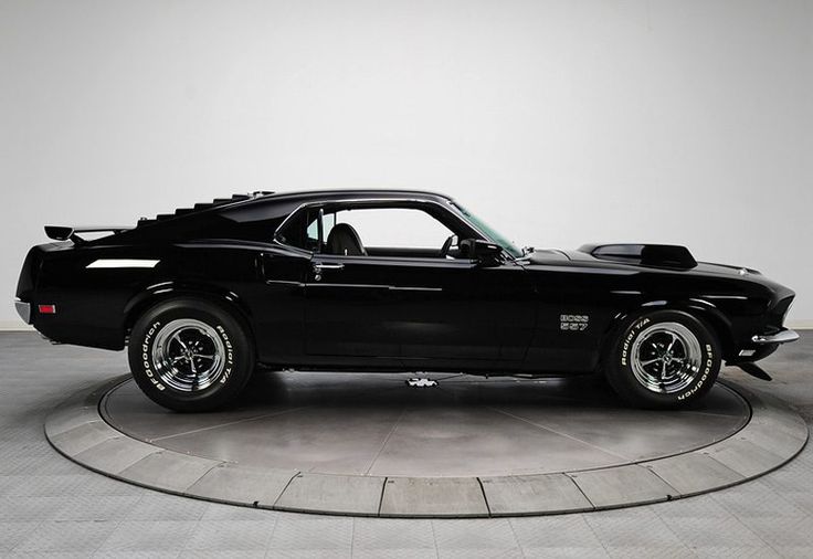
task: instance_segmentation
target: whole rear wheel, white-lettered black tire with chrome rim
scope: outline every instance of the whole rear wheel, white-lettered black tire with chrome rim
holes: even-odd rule
[[[133,327],[127,354],[144,393],[180,412],[228,405],[254,370],[253,344],[241,319],[224,305],[198,298],[149,308]]]

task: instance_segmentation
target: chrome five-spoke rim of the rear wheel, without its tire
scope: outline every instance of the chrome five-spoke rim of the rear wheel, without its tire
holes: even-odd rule
[[[156,335],[152,366],[161,381],[180,392],[211,387],[225,369],[225,346],[218,333],[193,318],[170,321]]]

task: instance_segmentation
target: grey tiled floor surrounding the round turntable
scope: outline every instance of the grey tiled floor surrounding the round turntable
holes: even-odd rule
[[[813,333],[767,361],[768,390],[813,422]],[[510,519],[392,520],[254,510],[163,495],[60,456],[44,416],[126,372],[124,354],[0,334],[0,557],[812,557],[813,451],[757,481],[672,503]]]

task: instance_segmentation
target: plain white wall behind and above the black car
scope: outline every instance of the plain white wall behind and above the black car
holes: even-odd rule
[[[813,2],[0,2],[0,323],[44,223],[454,194],[519,244],[687,244],[813,319]]]

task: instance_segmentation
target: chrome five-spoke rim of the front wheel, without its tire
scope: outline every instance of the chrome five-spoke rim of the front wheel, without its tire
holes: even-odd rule
[[[697,378],[703,349],[697,336],[679,323],[659,323],[643,330],[632,347],[632,372],[647,390],[671,394]]]

